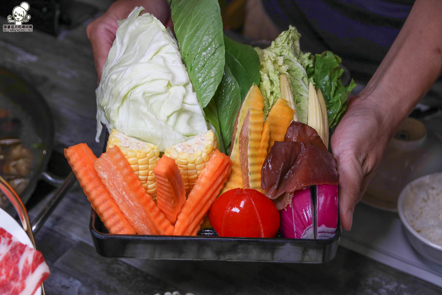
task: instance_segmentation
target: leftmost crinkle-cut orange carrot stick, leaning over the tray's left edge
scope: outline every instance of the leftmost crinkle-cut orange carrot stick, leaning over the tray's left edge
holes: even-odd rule
[[[87,200],[111,234],[134,235],[134,227],[112,199],[94,169],[97,159],[84,143],[64,149],[64,155],[83,188]]]

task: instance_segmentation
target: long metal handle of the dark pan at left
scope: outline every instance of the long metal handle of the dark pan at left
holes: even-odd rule
[[[54,211],[55,207],[64,197],[64,195],[69,191],[72,184],[76,181],[76,177],[73,172],[64,179],[52,197],[46,202],[45,206],[38,212],[37,216],[32,220],[32,232],[37,233],[49,215]]]

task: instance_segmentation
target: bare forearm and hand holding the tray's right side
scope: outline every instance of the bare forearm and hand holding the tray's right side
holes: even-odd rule
[[[386,57],[367,86],[350,100],[332,135],[344,230],[351,229],[353,210],[393,132],[441,73],[441,15],[442,1],[415,1]]]

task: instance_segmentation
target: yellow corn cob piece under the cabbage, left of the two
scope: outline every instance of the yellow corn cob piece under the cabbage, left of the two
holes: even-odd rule
[[[156,199],[157,181],[153,169],[160,159],[160,149],[150,143],[127,136],[115,129],[109,134],[106,150],[117,146],[137,175],[146,192]]]

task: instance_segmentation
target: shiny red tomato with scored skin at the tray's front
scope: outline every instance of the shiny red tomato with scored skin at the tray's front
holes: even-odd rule
[[[219,236],[274,237],[279,228],[275,204],[254,189],[221,194],[210,207],[209,220]]]

